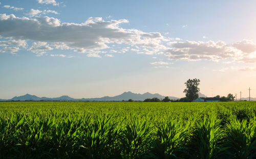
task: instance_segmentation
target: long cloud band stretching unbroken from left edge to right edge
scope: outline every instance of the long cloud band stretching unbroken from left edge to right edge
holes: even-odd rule
[[[31,16],[57,14],[51,10],[30,11]],[[101,17],[90,17],[76,24],[48,16],[16,17],[14,14],[0,14],[0,36],[11,39],[9,42],[0,41],[0,46],[25,48],[28,46],[27,41],[32,41],[28,50],[38,55],[61,49],[86,53],[88,57],[133,51],[138,54],[165,55],[169,60],[256,61],[256,44],[251,40],[238,41],[232,45],[224,41],[183,41],[180,38],[166,38],[159,32],[146,33],[120,27],[127,22],[126,19],[105,21]],[[118,50],[119,46],[129,47]],[[104,49],[111,50],[106,52]]]

